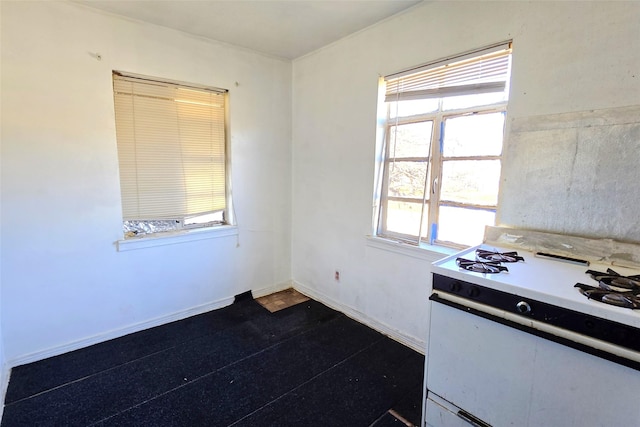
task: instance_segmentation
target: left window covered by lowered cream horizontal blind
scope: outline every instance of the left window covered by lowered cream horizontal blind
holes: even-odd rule
[[[113,73],[125,237],[227,223],[227,91]]]

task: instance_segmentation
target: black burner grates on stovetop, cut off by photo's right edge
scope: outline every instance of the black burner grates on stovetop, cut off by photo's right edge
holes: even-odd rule
[[[598,281],[599,287],[577,283],[574,287],[589,299],[632,309],[640,309],[640,275],[622,276],[607,269],[606,273],[587,270],[592,279]]]

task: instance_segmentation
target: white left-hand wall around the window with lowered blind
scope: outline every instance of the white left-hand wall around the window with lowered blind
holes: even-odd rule
[[[230,89],[237,238],[116,250],[112,70]],[[290,62],[66,2],[3,1],[9,363],[289,283],[290,99]]]

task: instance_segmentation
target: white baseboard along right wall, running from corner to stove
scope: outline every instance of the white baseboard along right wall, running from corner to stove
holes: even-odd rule
[[[341,313],[344,313],[346,316],[356,320],[364,325],[369,326],[371,329],[375,329],[376,331],[388,336],[389,338],[398,341],[400,344],[406,345],[407,347],[417,351],[420,354],[425,354],[425,349],[427,348],[426,342],[420,340],[418,338],[412,337],[410,335],[403,334],[397,329],[392,328],[389,325],[386,325],[374,318],[367,316],[364,313],[359,312],[353,307],[349,307],[344,305],[327,295],[318,292],[315,289],[309,288],[304,284],[294,281],[293,287],[296,291],[300,292],[312,298],[318,302],[325,304],[328,307],[333,308],[334,310],[338,310]]]

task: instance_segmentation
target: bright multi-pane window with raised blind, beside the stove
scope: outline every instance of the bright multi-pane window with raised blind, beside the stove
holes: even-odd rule
[[[377,235],[469,246],[495,223],[510,43],[386,76]]]

